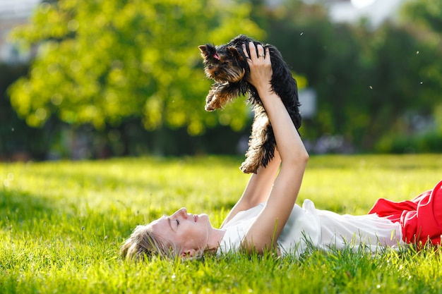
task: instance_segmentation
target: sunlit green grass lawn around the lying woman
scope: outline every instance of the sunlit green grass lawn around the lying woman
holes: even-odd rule
[[[311,157],[298,203],[364,214],[442,178],[441,155]],[[442,255],[314,251],[128,264],[119,245],[138,223],[180,207],[214,226],[249,176],[241,158],[0,164],[0,293],[442,293]]]

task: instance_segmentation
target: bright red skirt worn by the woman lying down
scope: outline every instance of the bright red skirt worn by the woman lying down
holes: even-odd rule
[[[400,222],[402,239],[406,243],[441,245],[442,180],[413,200],[393,202],[381,198],[369,211],[369,214],[375,213]]]

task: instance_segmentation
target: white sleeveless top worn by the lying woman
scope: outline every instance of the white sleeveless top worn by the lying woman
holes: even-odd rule
[[[264,204],[244,212],[238,212],[223,229],[224,237],[217,255],[239,250],[241,240],[253,221],[263,210]],[[402,241],[400,223],[377,214],[352,216],[316,209],[311,200],[305,200],[302,208],[295,204],[292,213],[277,240],[282,255],[299,256],[308,246],[323,250],[342,249],[345,246],[363,247],[376,251],[380,247],[397,248]]]

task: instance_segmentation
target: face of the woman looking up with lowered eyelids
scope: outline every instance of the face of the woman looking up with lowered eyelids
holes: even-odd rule
[[[188,214],[183,207],[171,216],[162,216],[152,224],[153,233],[161,235],[183,252],[191,254],[193,250],[205,249],[212,226],[207,214]]]

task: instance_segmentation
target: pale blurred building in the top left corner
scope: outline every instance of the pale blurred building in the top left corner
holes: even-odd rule
[[[41,0],[0,0],[0,63],[25,63],[32,52],[20,51],[16,44],[8,42],[8,35],[18,25],[28,23],[32,11]]]

